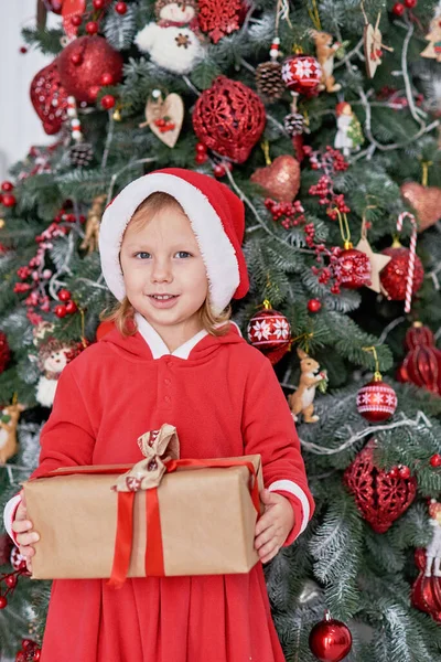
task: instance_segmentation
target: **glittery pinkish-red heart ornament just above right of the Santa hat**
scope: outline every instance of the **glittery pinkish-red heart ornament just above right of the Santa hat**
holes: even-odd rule
[[[300,189],[299,161],[289,154],[277,157],[270,166],[256,170],[250,179],[275,200],[291,202]]]

